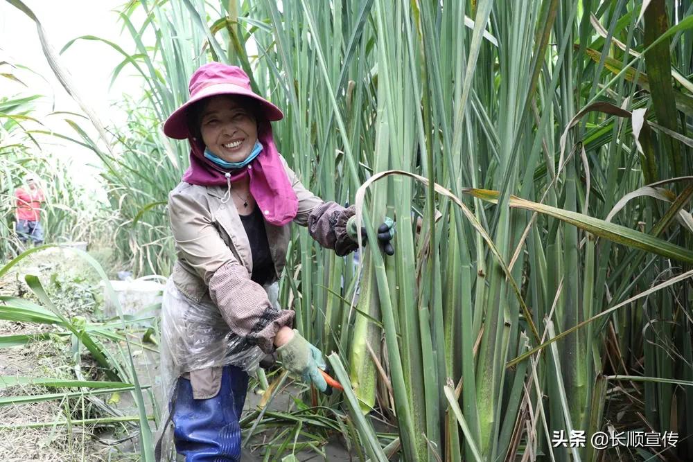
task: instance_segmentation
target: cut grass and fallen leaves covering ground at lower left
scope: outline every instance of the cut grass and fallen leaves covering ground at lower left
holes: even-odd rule
[[[140,416],[123,415],[125,408],[115,407],[119,396],[136,387],[107,382],[103,365],[85,350],[87,337],[79,333],[103,333],[99,343],[117,351],[122,331],[94,322],[100,288],[89,265],[77,256],[57,255],[62,250],[30,254],[0,279],[0,434],[6,460],[87,460],[87,454],[95,461],[140,460],[126,446],[109,443],[137,438]],[[40,317],[40,300],[19,278],[25,272],[44,275],[42,285],[62,320],[46,311]],[[18,320],[9,303],[24,306],[28,317]],[[70,326],[80,326],[78,335]],[[8,337],[21,341],[7,343]]]

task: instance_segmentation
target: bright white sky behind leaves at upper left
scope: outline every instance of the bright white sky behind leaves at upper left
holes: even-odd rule
[[[71,39],[82,35],[96,35],[112,40],[123,46],[128,53],[134,51],[134,43],[127,31],[121,35],[121,24],[114,10],[120,8],[124,0],[24,0],[41,21],[47,38],[56,51]],[[60,55],[60,62],[78,86],[87,105],[91,106],[105,125],[121,125],[125,114],[114,106],[123,93],[132,96],[141,94],[141,80],[125,68],[121,77],[109,89],[112,70],[122,57],[106,44],[79,40]],[[6,1],[0,0],[0,62],[9,61],[32,69],[15,70],[15,74],[27,85],[23,87],[11,80],[0,79],[0,98],[21,94],[41,94],[44,98],[35,105],[37,118],[50,130],[76,134],[61,116],[49,116],[53,111],[81,112],[78,105],[67,94],[53,74],[41,48],[34,22],[24,12],[17,10]],[[1,72],[10,70],[0,67]],[[96,131],[87,121],[81,123],[94,137]],[[96,170],[90,164],[98,162],[96,155],[69,142],[55,139],[42,140],[42,147],[51,155],[60,156],[71,162],[72,170],[85,181],[90,190],[97,190],[94,181]],[[85,175],[85,172],[89,172]]]

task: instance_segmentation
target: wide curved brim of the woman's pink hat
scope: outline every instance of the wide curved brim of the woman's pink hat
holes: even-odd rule
[[[164,122],[164,134],[173,139],[189,138],[190,130],[188,130],[187,120],[188,107],[200,100],[204,100],[204,98],[219,95],[238,95],[253,98],[260,103],[260,110],[267,121],[279,121],[284,117],[284,114],[281,112],[279,107],[265,100],[265,98],[258,96],[253,91],[232,83],[218,83],[200,89],[200,91],[195,93],[195,96],[191,96],[191,98],[188,99],[181,107],[176,109],[173,114],[168,116],[166,122]]]

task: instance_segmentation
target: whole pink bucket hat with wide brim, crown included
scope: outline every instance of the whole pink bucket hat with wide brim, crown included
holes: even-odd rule
[[[238,66],[229,66],[220,62],[210,62],[200,66],[190,78],[188,84],[190,98],[173,112],[164,123],[164,134],[174,139],[190,137],[188,130],[188,107],[209,96],[238,95],[253,98],[259,104],[267,121],[279,121],[283,118],[279,107],[259,96],[250,87],[250,79]]]

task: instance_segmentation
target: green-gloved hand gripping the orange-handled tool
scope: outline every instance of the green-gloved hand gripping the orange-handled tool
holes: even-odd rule
[[[292,339],[277,348],[277,355],[287,371],[299,375],[306,383],[312,382],[319,391],[327,389],[327,382],[318,371],[318,368],[325,370],[325,358],[298,330],[294,329]]]

